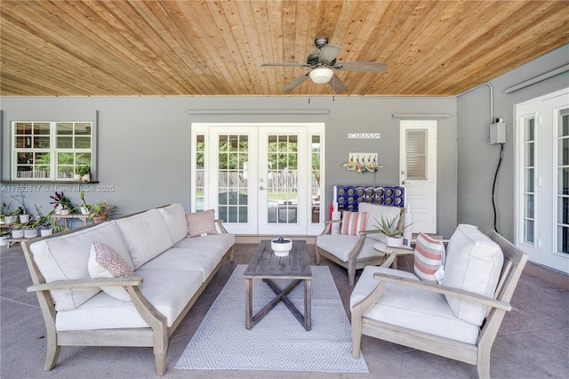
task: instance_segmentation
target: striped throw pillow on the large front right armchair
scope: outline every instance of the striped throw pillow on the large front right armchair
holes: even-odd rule
[[[421,280],[428,282],[440,282],[442,278],[437,276],[442,270],[445,260],[445,245],[442,241],[430,238],[426,234],[419,233],[413,253],[413,270]],[[436,275],[437,270],[439,274]]]

